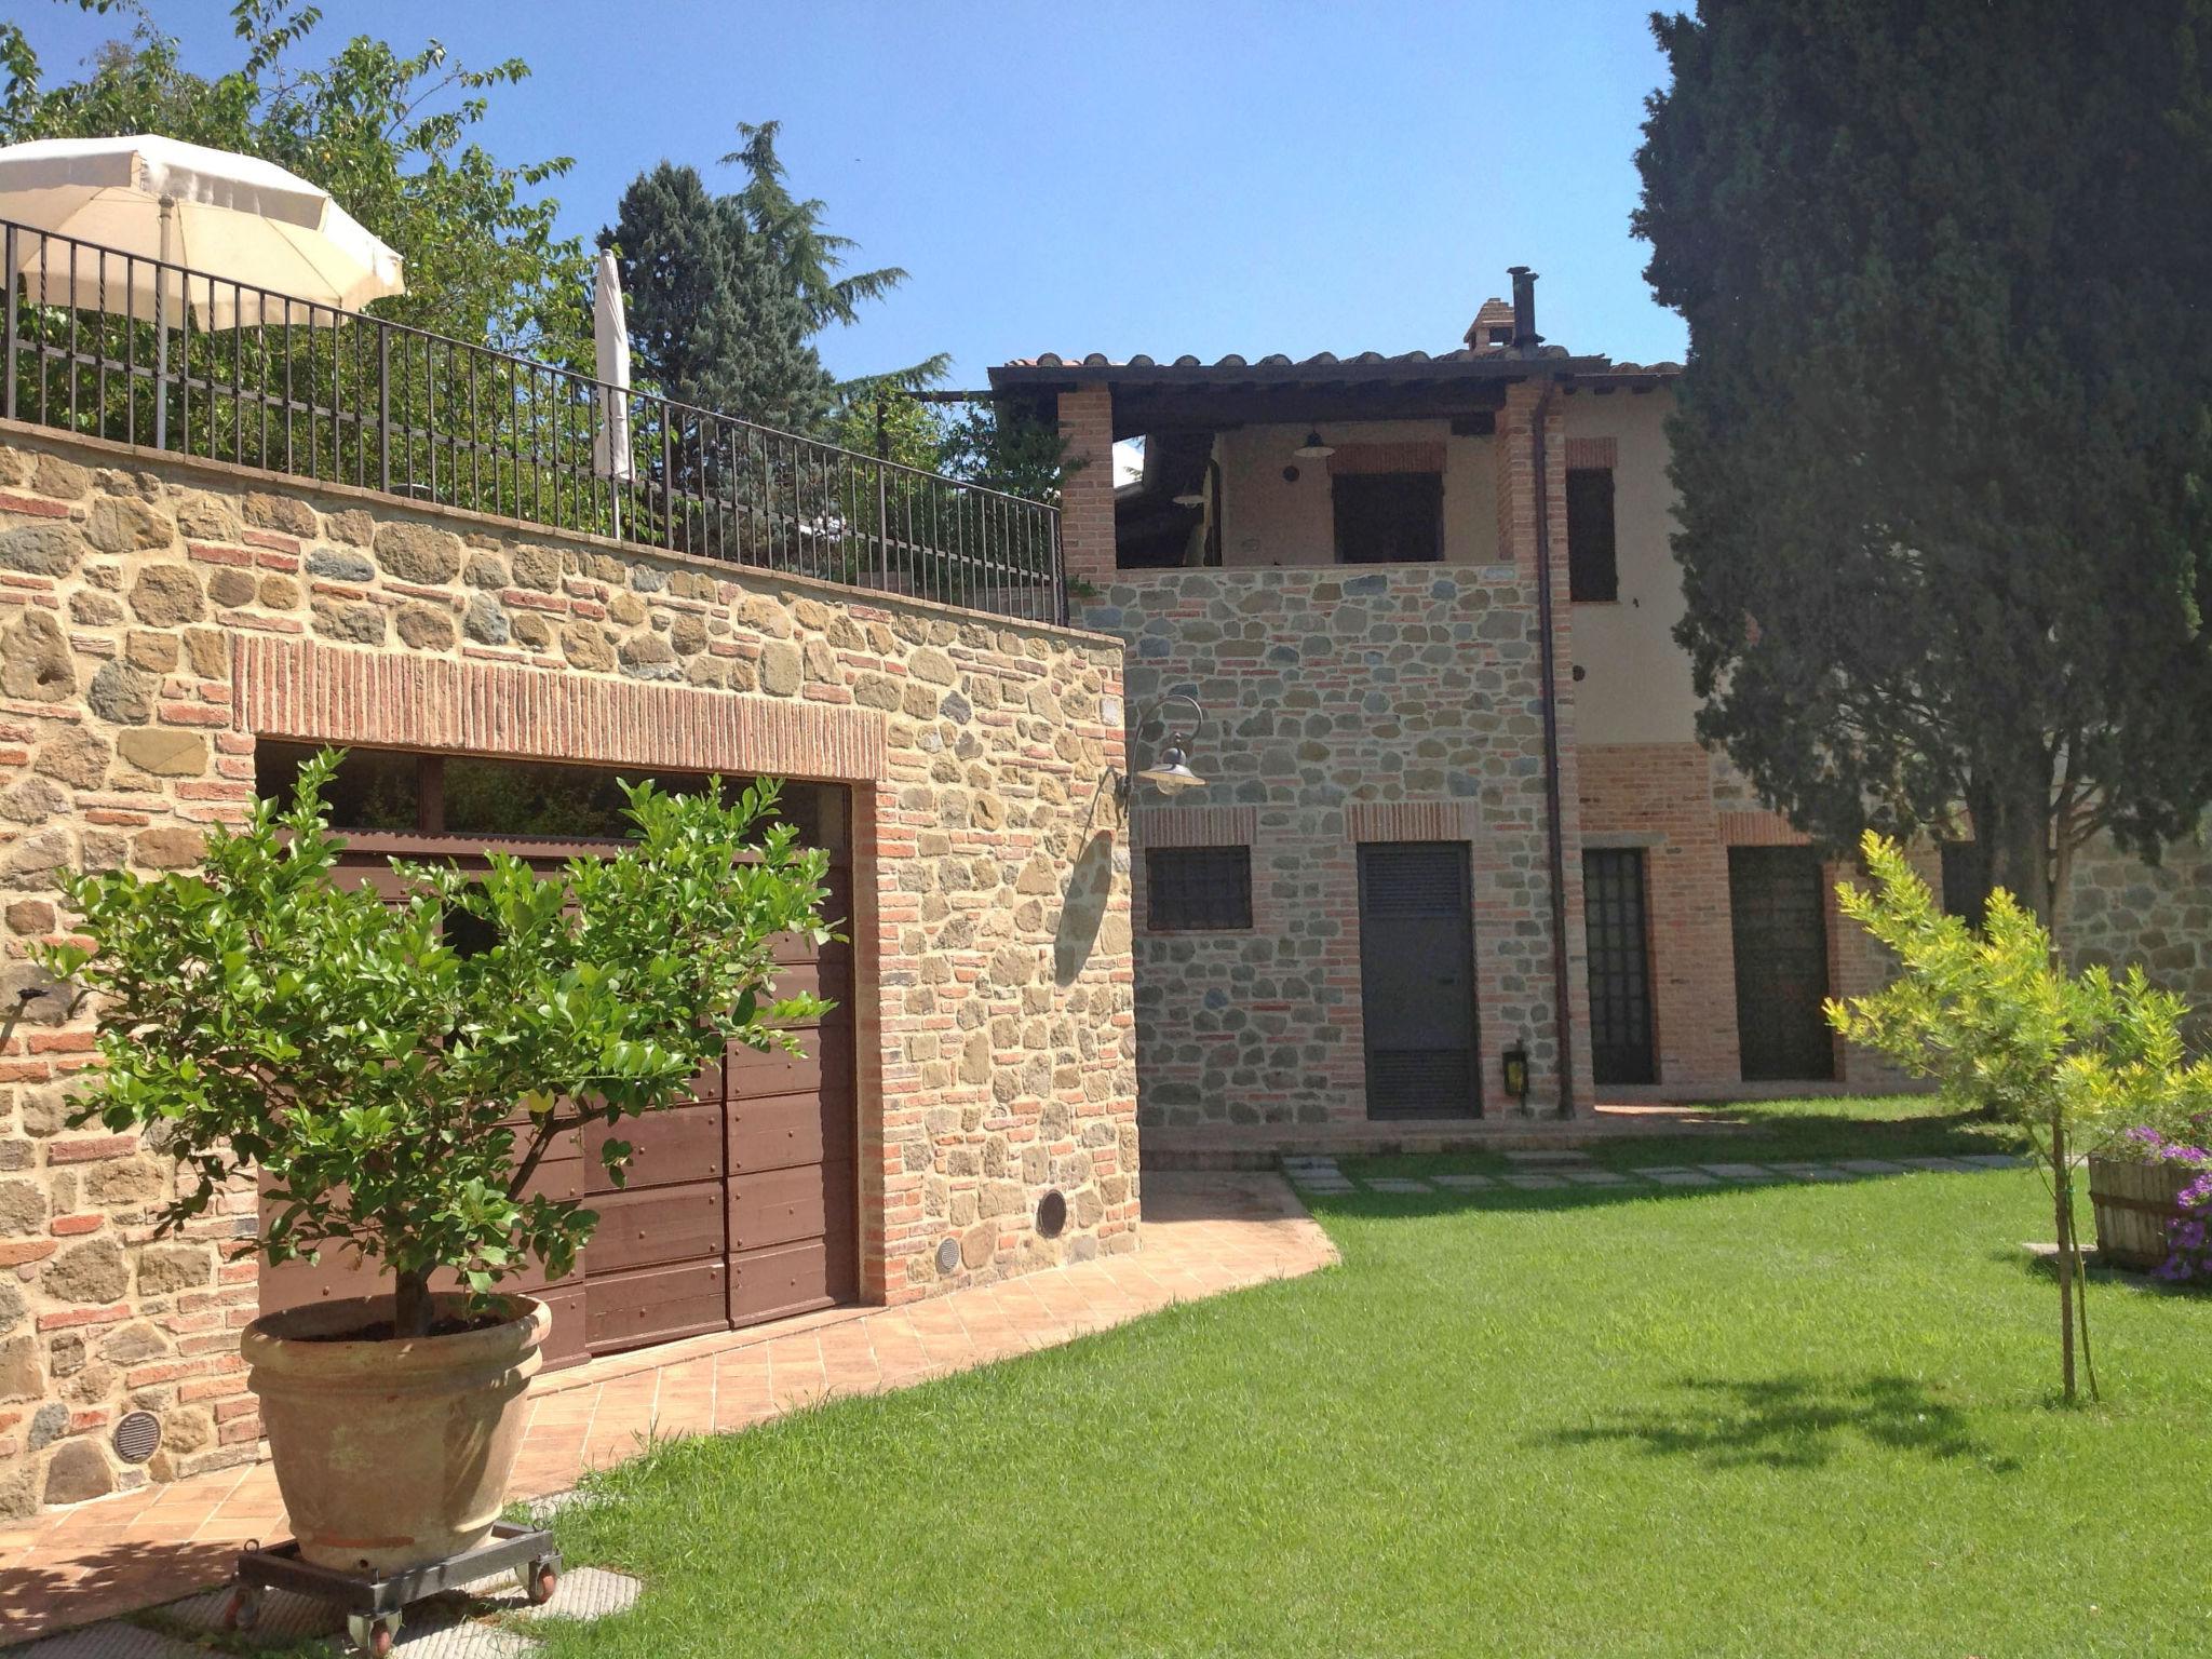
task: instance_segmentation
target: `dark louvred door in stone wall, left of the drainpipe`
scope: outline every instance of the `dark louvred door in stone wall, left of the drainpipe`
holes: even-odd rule
[[[1464,845],[1360,845],[1360,1020],[1369,1117],[1482,1115]]]

